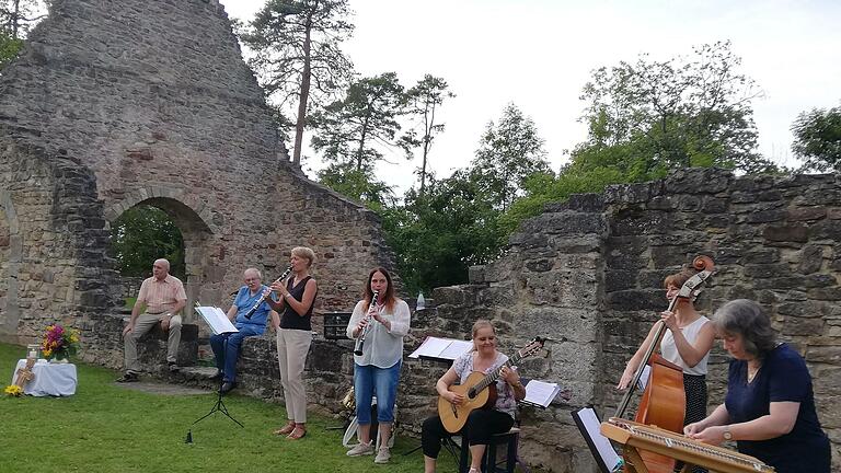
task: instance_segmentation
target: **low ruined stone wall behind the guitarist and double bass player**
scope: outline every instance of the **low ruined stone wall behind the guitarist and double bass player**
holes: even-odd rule
[[[527,359],[522,373],[556,381],[573,397],[522,409],[523,459],[555,472],[595,471],[571,412],[592,404],[602,417],[613,415],[621,400],[613,387],[667,305],[664,277],[706,254],[717,273],[699,299],[701,311],[710,315],[737,298],[769,311],[780,338],[806,359],[833,468],[841,468],[833,407],[841,389],[841,175],[677,172],[550,205],[510,243],[499,261],[473,268],[469,285],[436,289],[437,314],[416,316],[413,333],[458,337],[481,316],[502,328],[504,350],[534,335],[555,341]],[[723,401],[726,361],[716,343],[711,407]],[[431,380],[441,372],[426,361],[406,364],[410,388],[399,400],[411,428],[430,412]]]

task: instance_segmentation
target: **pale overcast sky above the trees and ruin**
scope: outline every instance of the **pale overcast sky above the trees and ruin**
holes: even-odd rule
[[[263,0],[220,0],[251,20]],[[438,117],[430,165],[439,177],[473,158],[488,120],[514,102],[538,126],[553,168],[586,138],[578,97],[590,71],[641,53],[666,60],[692,46],[731,41],[741,72],[764,91],[753,103],[759,151],[795,165],[788,130],[797,114],[841,104],[841,1],[796,0],[350,0],[356,25],[344,50],[364,76],[394,71],[404,86],[425,73],[458,96]],[[307,138],[309,141],[309,138]],[[312,151],[304,168],[319,169]],[[401,189],[414,176],[382,164]],[[419,161],[419,160],[416,160]],[[401,193],[402,194],[402,193]]]

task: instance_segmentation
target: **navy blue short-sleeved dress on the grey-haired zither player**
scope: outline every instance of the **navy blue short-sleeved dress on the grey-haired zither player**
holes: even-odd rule
[[[739,440],[739,451],[762,460],[777,473],[829,473],[829,439],[815,412],[811,377],[800,355],[786,344],[772,349],[748,383],[748,365],[731,360],[725,405],[731,424],[769,414],[772,402],[798,402],[791,432],[769,440]]]

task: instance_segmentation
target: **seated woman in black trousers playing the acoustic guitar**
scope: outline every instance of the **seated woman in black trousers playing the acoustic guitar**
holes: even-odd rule
[[[435,384],[438,394],[458,406],[465,402],[465,396],[449,390],[457,381],[464,383],[473,372],[491,373],[499,369],[508,357],[496,350],[496,331],[491,322],[476,321],[473,324],[473,350],[453,361],[452,367]],[[516,370],[503,367],[496,381],[496,403],[492,408],[477,408],[470,413],[461,430],[462,441],[470,445],[470,473],[481,471],[482,455],[491,441],[491,436],[508,431],[514,425],[517,401],[526,397],[526,388],[520,382]],[[441,439],[450,434],[439,416],[429,417],[422,428],[424,450],[424,472],[435,472]]]

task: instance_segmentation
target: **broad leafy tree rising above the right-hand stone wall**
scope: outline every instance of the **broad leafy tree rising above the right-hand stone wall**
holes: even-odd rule
[[[589,103],[583,117],[589,139],[576,147],[573,161],[595,159],[631,180],[689,166],[774,171],[756,152],[751,102],[761,92],[738,72],[741,59],[729,42],[693,53],[666,61],[643,55],[635,64],[594,71],[581,96]]]

